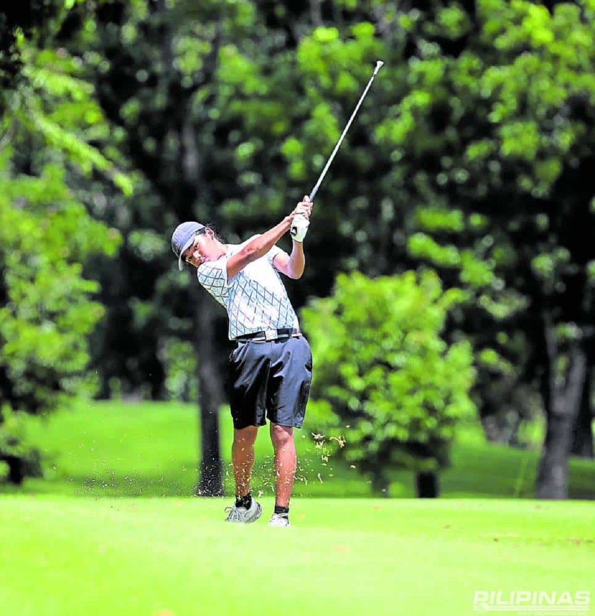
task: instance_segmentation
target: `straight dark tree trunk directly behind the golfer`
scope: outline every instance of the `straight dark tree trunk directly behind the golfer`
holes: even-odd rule
[[[219,407],[222,380],[217,364],[215,340],[216,304],[198,285],[193,291],[195,304],[195,353],[198,375],[198,406],[200,408],[200,471],[196,494],[222,496],[223,480],[219,447]]]

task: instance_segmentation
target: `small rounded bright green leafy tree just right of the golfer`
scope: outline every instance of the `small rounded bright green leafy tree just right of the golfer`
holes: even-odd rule
[[[456,422],[474,408],[471,347],[440,336],[463,297],[444,293],[431,271],[374,280],[352,272],[302,310],[316,358],[315,425],[376,487],[391,468],[445,466]]]

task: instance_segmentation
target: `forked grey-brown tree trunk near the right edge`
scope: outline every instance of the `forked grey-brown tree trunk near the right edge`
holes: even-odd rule
[[[537,471],[536,496],[552,500],[568,498],[568,459],[572,430],[578,416],[583,381],[586,378],[586,353],[581,340],[570,343],[565,378],[557,374],[560,357],[551,315],[544,316],[544,335],[548,351],[546,437]]]

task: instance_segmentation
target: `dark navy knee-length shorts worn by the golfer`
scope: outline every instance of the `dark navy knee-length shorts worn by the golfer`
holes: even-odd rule
[[[266,420],[301,428],[312,381],[312,351],[304,336],[238,342],[229,355],[233,427]]]

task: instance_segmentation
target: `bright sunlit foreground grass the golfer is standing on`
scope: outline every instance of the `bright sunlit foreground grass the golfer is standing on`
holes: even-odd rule
[[[2,614],[473,614],[475,591],[590,590],[591,503],[297,499],[291,529],[200,498],[2,497]],[[584,612],[583,612],[584,613]]]

